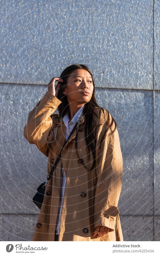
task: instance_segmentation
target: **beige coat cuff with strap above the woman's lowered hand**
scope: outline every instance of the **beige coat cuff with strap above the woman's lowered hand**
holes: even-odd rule
[[[94,228],[96,226],[106,226],[110,228],[110,232],[115,231],[116,216],[119,214],[119,210],[116,206],[106,204],[101,215],[94,219]]]

